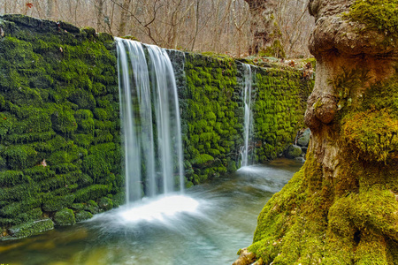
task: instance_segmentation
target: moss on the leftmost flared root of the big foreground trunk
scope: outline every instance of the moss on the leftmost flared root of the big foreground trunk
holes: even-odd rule
[[[326,190],[314,194],[322,182],[321,172],[313,155],[308,155],[302,170],[264,206],[249,246],[257,259],[275,264],[322,261],[327,211],[318,209],[326,208],[333,198]]]

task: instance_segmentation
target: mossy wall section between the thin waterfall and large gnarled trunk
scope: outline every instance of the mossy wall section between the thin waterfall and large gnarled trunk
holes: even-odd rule
[[[295,141],[313,81],[292,69],[256,68],[254,73],[255,161],[264,163]]]

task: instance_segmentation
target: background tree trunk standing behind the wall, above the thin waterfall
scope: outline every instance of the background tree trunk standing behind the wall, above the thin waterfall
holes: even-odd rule
[[[245,0],[249,4],[250,32],[249,54],[257,54],[272,46],[276,34],[274,12],[275,0]]]

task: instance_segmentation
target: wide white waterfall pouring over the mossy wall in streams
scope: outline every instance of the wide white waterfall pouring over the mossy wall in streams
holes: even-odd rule
[[[180,107],[172,64],[165,51],[115,38],[125,149],[126,202],[184,191]],[[155,140],[157,138],[157,141]]]

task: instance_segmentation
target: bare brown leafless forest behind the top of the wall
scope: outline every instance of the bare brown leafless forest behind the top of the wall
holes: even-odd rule
[[[19,13],[168,49],[232,57],[310,57],[308,0],[0,0]]]

